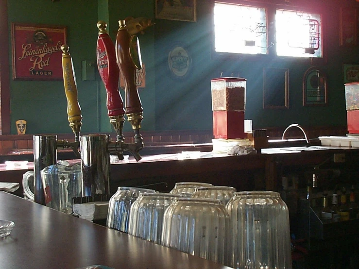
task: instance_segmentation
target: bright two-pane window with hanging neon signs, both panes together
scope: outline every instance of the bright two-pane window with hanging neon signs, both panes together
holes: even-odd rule
[[[323,58],[320,14],[263,5],[215,2],[214,51]],[[276,51],[269,50],[274,43]]]

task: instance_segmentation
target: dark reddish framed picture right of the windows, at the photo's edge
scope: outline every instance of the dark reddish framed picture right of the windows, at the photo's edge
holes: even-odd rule
[[[340,45],[356,46],[358,44],[358,14],[355,8],[341,8],[340,11]]]

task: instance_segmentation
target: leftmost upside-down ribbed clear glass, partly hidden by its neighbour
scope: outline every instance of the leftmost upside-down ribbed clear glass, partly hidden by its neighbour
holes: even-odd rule
[[[153,189],[118,187],[108,204],[106,226],[124,233],[128,232],[130,208],[140,193],[156,192]]]

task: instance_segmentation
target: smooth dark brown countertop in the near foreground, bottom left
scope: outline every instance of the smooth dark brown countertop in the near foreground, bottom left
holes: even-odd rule
[[[15,228],[0,239],[1,268],[225,269],[0,191],[0,219]]]

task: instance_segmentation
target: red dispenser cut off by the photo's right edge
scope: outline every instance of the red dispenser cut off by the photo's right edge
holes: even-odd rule
[[[359,82],[344,84],[349,134],[359,134]]]

